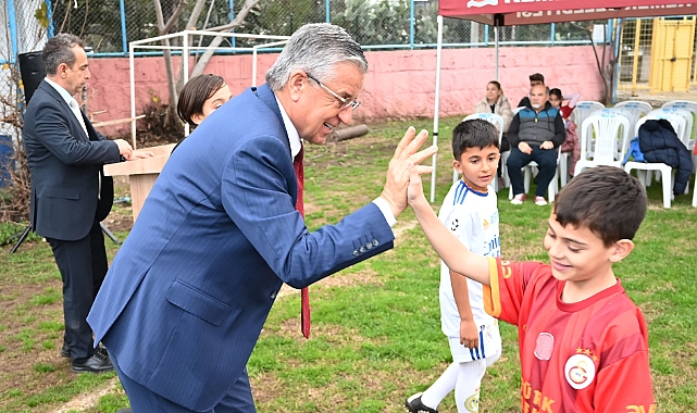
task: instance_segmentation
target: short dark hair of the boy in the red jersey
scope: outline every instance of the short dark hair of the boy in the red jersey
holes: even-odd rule
[[[632,239],[646,216],[644,186],[614,166],[592,167],[575,176],[557,196],[557,222],[585,226],[606,247]]]

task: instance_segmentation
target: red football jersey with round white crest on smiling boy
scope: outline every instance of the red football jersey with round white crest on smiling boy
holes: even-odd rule
[[[619,279],[565,303],[547,264],[490,258],[489,268],[485,309],[518,326],[524,413],[656,411],[646,321]]]

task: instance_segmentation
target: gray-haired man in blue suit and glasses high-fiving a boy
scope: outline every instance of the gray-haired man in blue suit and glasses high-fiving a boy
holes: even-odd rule
[[[408,129],[382,195],[338,224],[309,233],[296,211],[294,158],[351,122],[366,71],[343,28],[306,25],[265,85],[172,154],[88,317],[134,412],[256,412],[245,365],[282,284],[302,288],[393,247],[408,164],[436,151],[419,151],[425,130]]]

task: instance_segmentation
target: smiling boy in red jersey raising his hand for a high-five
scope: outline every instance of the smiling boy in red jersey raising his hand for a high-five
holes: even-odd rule
[[[612,272],[646,215],[636,178],[598,166],[559,192],[544,240],[551,265],[468,251],[436,217],[415,170],[409,203],[450,270],[485,285],[486,311],[518,326],[523,412],[656,411],[646,321]]]

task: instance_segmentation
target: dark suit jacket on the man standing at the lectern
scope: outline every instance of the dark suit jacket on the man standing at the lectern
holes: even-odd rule
[[[24,115],[24,146],[32,174],[32,226],[36,234],[77,240],[111,211],[114,186],[102,165],[119,162],[119,147],[97,133],[84,113],[87,134],[61,95],[46,80]],[[100,192],[99,175],[101,177]]]

